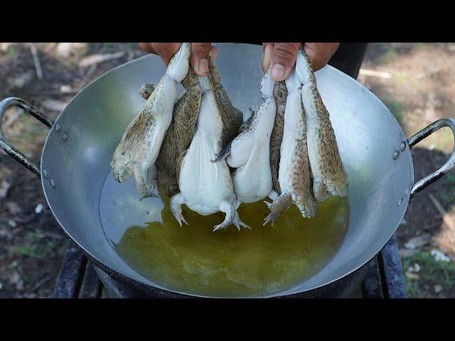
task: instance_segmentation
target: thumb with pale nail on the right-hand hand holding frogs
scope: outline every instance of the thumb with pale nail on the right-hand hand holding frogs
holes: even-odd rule
[[[285,80],[296,65],[300,43],[275,43],[272,53],[272,79]]]

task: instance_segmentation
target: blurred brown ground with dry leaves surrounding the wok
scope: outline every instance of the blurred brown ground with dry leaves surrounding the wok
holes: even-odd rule
[[[89,82],[141,55],[137,43],[0,43],[0,99],[20,97],[55,119]],[[358,81],[411,136],[455,118],[455,43],[370,43]],[[48,129],[16,108],[3,126],[38,162]],[[416,180],[452,148],[447,128],[413,148]],[[397,238],[408,295],[455,298],[455,173],[414,197]],[[67,243],[36,175],[0,150],[0,298],[51,297]]]

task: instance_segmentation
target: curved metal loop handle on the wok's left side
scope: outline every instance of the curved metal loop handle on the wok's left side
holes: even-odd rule
[[[1,121],[3,120],[6,109],[14,105],[16,107],[23,109],[28,114],[31,114],[33,117],[38,119],[38,121],[41,121],[49,128],[54,124],[54,122],[49,117],[46,117],[45,115],[41,114],[41,112],[38,112],[38,109],[36,109],[30,103],[27,103],[23,99],[17,97],[9,97],[0,102],[0,147],[4,151],[6,151],[6,153],[8,153],[12,158],[14,158],[14,160],[18,161],[18,163],[21,163],[22,166],[27,168],[32,173],[35,173],[36,175],[41,177],[40,168],[38,168],[38,166],[36,166],[36,164],[33,163],[33,161],[31,161],[29,158],[23,155],[23,153],[14,148],[14,146],[11,146],[11,144],[9,144],[6,141],[5,136],[3,134]]]

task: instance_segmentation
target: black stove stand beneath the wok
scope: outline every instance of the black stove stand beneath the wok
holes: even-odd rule
[[[134,287],[93,265],[70,243],[55,286],[54,298],[181,298],[177,293]],[[406,298],[405,278],[395,235],[365,266],[305,293],[284,298]]]

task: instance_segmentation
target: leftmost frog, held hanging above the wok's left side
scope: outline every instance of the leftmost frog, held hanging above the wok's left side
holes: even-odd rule
[[[134,175],[141,199],[159,196],[156,194],[155,162],[164,134],[171,124],[173,107],[177,101],[177,85],[188,74],[190,53],[191,43],[182,43],[166,73],[146,99],[139,114],[129,123],[114,151],[111,168],[115,180],[123,183]]]

